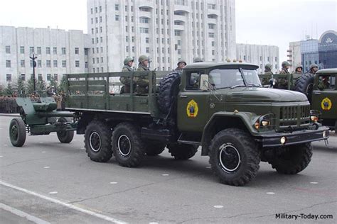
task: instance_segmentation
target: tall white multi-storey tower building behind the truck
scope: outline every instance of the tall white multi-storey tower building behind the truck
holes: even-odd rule
[[[87,0],[87,27],[90,72],[120,71],[128,56],[160,70],[235,57],[234,0]]]

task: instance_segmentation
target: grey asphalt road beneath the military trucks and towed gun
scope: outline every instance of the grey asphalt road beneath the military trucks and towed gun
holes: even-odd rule
[[[277,219],[277,213],[299,215],[299,223],[336,223],[333,132],[328,147],[313,144],[311,163],[300,174],[277,174],[262,162],[255,180],[235,187],[218,183],[200,153],[176,161],[165,151],[130,169],[114,158],[90,161],[83,135],[70,144],[58,142],[55,134],[27,136],[23,147],[13,147],[10,121],[0,117],[0,223],[295,222]]]

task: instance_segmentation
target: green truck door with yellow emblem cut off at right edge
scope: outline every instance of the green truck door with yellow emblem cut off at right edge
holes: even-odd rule
[[[337,114],[337,94],[336,94],[336,75],[335,74],[319,74],[316,77],[314,91],[312,96],[311,108],[321,111],[321,118],[327,121],[336,120]],[[326,125],[333,126],[332,123]]]

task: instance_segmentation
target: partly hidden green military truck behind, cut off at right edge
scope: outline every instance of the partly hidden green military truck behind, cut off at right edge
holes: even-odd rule
[[[296,82],[292,80],[291,74],[260,74],[259,77],[264,83],[264,87],[274,89],[279,89],[276,80],[287,80],[287,89],[305,94],[311,103],[311,109],[319,111],[320,123],[328,126],[331,130],[336,130],[336,74],[337,69],[321,69],[315,75],[303,74]],[[326,82],[327,86],[323,82]]]

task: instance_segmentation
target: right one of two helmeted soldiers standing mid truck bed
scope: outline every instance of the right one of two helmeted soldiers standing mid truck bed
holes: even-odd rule
[[[149,71],[149,57],[146,55],[139,56],[137,72]],[[134,81],[137,84],[137,94],[149,93],[149,79],[147,77],[134,77]]]

